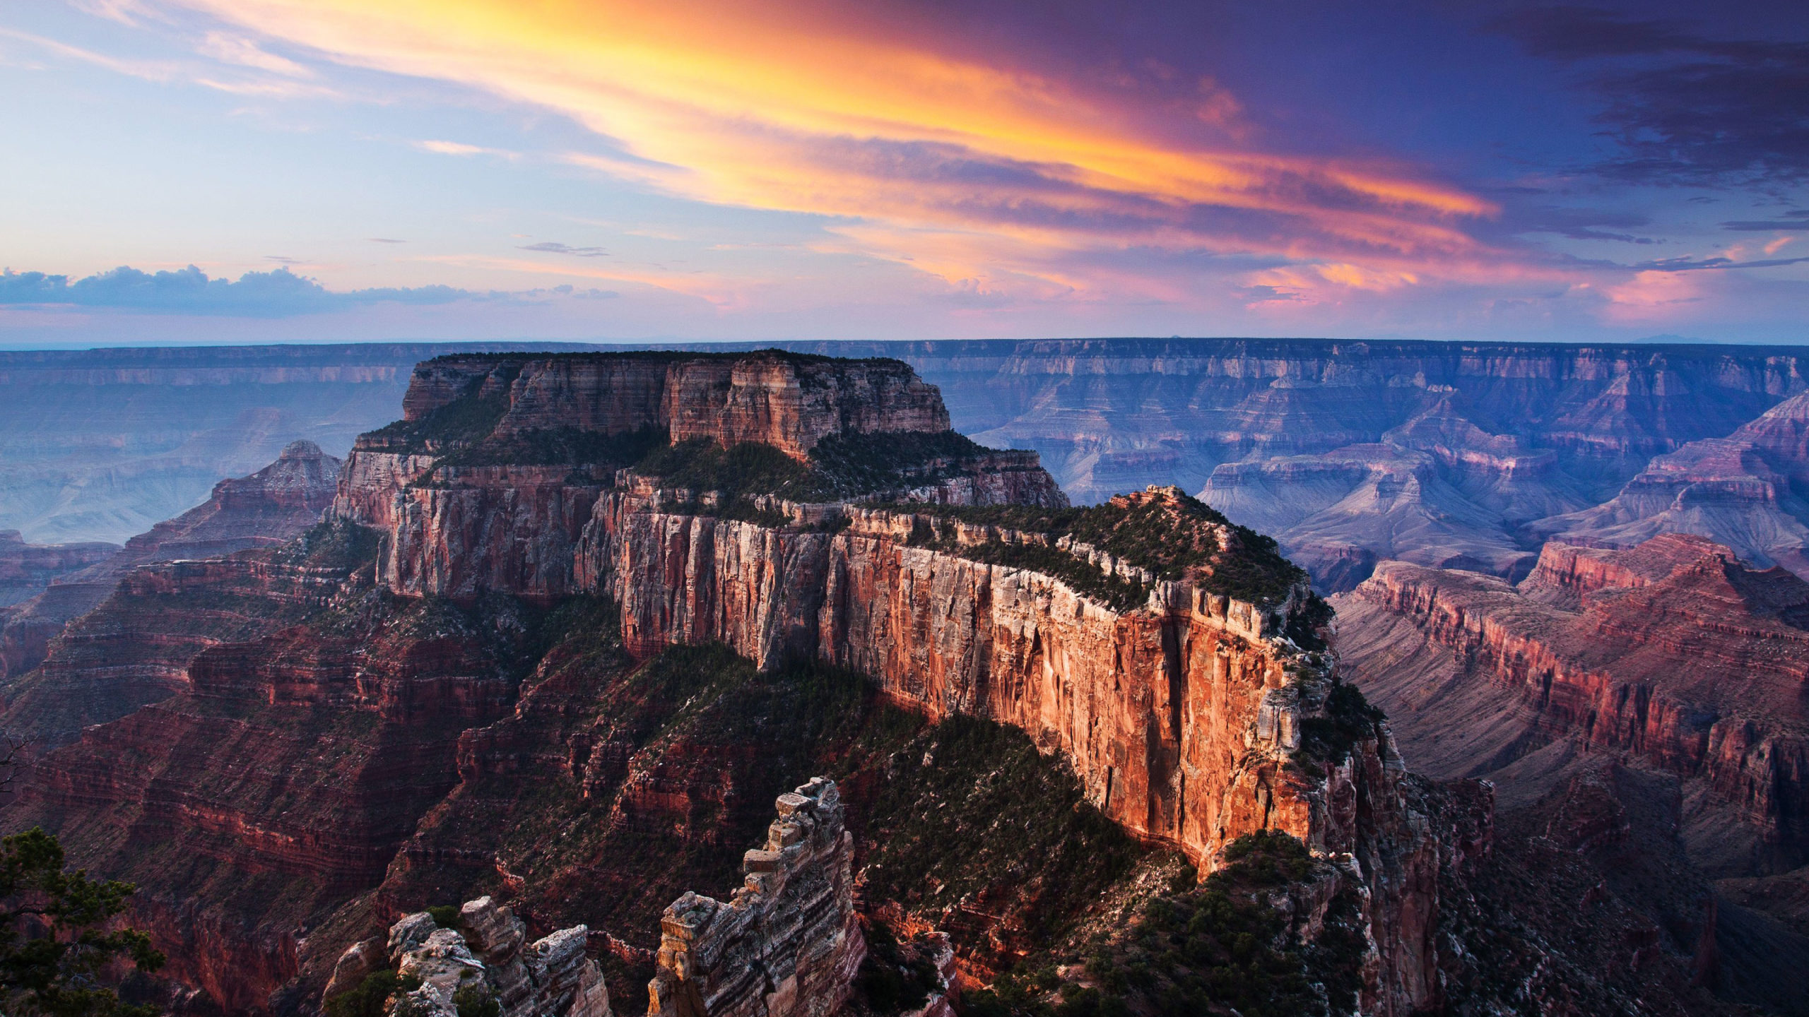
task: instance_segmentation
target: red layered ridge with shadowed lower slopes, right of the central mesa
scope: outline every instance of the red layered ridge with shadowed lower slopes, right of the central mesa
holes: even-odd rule
[[[1632,898],[1704,968],[1809,952],[1787,892],[1809,861],[1809,583],[1666,534],[1549,543],[1518,585],[1389,561],[1333,603],[1340,664],[1409,765],[1489,780],[1521,836],[1577,822],[1559,840],[1605,879],[1646,870]]]

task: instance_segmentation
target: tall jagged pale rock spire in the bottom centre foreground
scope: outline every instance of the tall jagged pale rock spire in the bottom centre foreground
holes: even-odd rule
[[[689,892],[666,908],[649,1017],[830,1017],[847,1003],[867,941],[834,782],[780,794],[743,870],[727,901]]]

